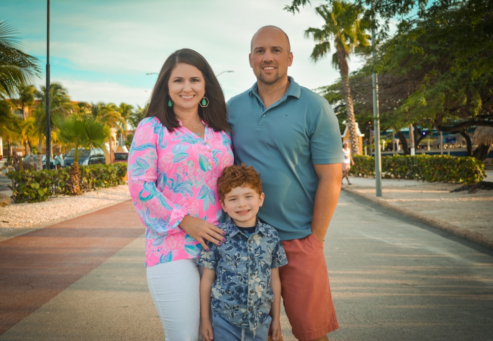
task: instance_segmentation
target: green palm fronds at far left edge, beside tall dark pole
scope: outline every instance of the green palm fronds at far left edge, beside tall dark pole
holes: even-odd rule
[[[38,60],[19,49],[15,34],[5,21],[0,22],[0,99],[11,98],[16,87],[30,83],[40,72]]]

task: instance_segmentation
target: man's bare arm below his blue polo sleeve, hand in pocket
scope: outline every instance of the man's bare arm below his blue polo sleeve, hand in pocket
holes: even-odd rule
[[[341,193],[342,165],[313,165],[319,183],[313,208],[312,233],[323,244]]]

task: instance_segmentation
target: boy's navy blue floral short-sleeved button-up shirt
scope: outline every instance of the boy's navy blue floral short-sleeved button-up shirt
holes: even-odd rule
[[[274,294],[271,268],[287,264],[277,231],[257,218],[255,232],[247,238],[231,218],[219,228],[226,231],[221,246],[210,243],[198,263],[216,273],[211,309],[235,327],[255,330],[269,315]]]

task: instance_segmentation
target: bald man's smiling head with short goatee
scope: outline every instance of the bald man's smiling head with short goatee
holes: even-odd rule
[[[257,81],[268,85],[287,79],[287,68],[293,63],[286,36],[272,27],[263,28],[253,36],[248,58]]]

